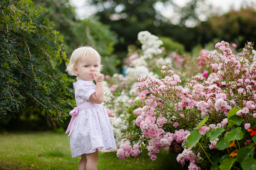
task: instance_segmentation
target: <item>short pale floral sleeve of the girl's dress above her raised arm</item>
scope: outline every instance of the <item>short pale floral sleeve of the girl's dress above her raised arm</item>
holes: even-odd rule
[[[96,85],[91,81],[81,81],[79,84],[79,96],[89,100],[90,96],[96,92]]]

